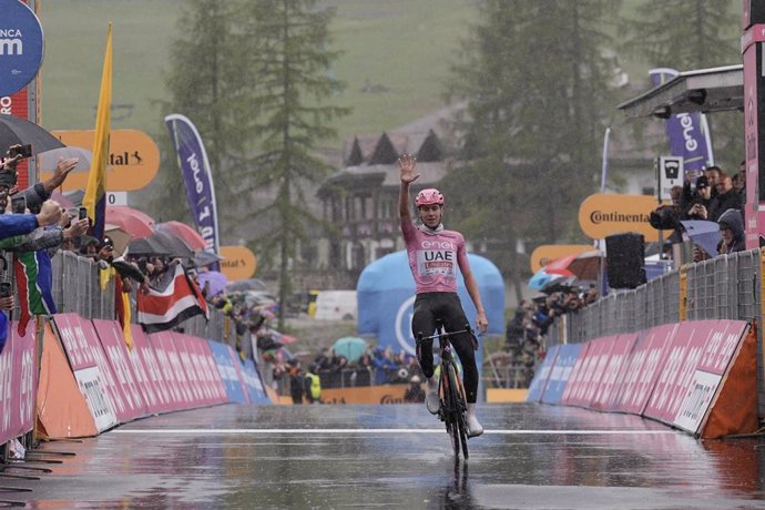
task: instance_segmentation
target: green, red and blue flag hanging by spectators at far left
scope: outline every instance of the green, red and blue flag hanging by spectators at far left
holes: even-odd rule
[[[53,271],[48,249],[16,254],[13,271],[21,308],[18,330],[20,336],[24,336],[32,315],[55,314]]]

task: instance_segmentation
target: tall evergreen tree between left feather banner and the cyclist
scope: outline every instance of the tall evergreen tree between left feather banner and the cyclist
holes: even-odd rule
[[[258,239],[262,257],[276,255],[279,275],[279,325],[290,293],[289,267],[297,243],[308,227],[319,224],[306,205],[305,186],[320,183],[326,164],[316,156],[317,143],[336,135],[330,123],[347,109],[325,104],[341,84],[328,73],[336,52],[329,51],[334,11],[317,9],[315,0],[253,0],[238,16],[235,31],[243,34],[252,90],[241,129],[259,147],[258,154],[233,176],[244,196],[261,188],[273,191],[248,218],[267,218]]]

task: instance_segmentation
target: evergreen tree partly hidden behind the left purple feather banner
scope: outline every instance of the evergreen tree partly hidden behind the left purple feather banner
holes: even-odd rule
[[[198,130],[215,182],[220,220],[231,214],[226,204],[235,185],[227,176],[242,160],[247,140],[247,133],[238,128],[241,102],[248,91],[239,72],[245,65],[244,49],[233,31],[238,12],[237,1],[187,0],[166,75],[170,100],[159,103],[163,119],[181,113]],[[162,214],[162,220],[190,217],[186,201],[178,200],[185,196],[184,183],[164,122],[157,130],[162,162],[146,210]],[[218,223],[224,228],[230,222]]]

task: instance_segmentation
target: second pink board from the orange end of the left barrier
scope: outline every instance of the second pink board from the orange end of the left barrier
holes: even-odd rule
[[[124,397],[124,408],[116,409],[121,422],[128,422],[146,416],[146,406],[133,368],[128,360],[128,346],[116,320],[92,320],[95,333],[106,354],[106,359],[115,376],[115,386]]]

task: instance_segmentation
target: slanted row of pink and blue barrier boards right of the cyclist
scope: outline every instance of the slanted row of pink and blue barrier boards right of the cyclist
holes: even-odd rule
[[[756,333],[743,320],[675,325],[559,345],[529,401],[629,412],[696,437],[757,430]]]

